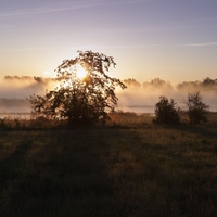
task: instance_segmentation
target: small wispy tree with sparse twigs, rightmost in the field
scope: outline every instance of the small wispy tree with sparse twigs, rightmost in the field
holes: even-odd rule
[[[203,98],[200,92],[190,92],[187,100],[182,99],[188,108],[190,123],[193,125],[207,122],[206,112],[209,105],[205,104],[202,100]]]

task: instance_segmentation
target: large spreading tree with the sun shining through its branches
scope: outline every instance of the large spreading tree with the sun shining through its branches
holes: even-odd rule
[[[68,125],[104,123],[118,101],[115,88],[126,88],[119,79],[105,74],[115,65],[112,56],[78,51],[77,58],[65,60],[58,66],[59,87],[44,97],[30,95],[33,114],[64,119]],[[82,77],[78,76],[80,69],[86,73]]]

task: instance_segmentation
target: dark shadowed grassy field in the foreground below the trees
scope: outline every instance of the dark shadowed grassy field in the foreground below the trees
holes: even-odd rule
[[[165,127],[128,116],[103,128],[0,131],[0,216],[216,216],[214,118]]]

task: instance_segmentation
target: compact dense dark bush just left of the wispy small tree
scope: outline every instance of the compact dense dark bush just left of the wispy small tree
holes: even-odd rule
[[[176,125],[180,123],[179,108],[171,99],[170,102],[166,97],[159,97],[159,102],[155,105],[155,124]]]

